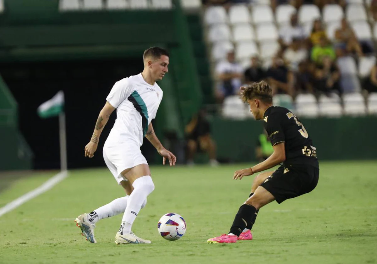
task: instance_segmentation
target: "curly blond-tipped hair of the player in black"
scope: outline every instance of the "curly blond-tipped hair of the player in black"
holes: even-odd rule
[[[272,103],[272,90],[267,81],[252,83],[241,89],[241,100],[246,103],[247,100],[257,98],[265,103]]]

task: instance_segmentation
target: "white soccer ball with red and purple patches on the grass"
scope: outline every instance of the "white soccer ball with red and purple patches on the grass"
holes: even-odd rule
[[[178,213],[167,213],[160,218],[157,228],[163,238],[178,240],[186,232],[186,222]]]

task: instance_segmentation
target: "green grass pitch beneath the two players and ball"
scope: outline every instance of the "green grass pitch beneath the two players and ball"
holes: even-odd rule
[[[115,245],[121,215],[97,223],[97,244],[74,219],[124,195],[107,169],[73,170],[46,193],[0,217],[0,263],[377,263],[377,162],[320,163],[317,188],[259,212],[253,241],[207,244],[229,230],[253,176],[232,180],[250,164],[218,168],[152,167],[155,190],[133,226],[150,245]],[[54,173],[22,178],[0,192],[0,207]],[[167,241],[158,219],[176,212],[187,232]]]

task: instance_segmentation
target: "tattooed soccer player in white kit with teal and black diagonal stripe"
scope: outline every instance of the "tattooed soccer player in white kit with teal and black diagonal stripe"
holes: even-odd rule
[[[169,54],[165,49],[152,47],[144,51],[144,70],[117,81],[106,98],[90,142],[85,146],[85,157],[92,158],[97,150],[98,140],[110,114],[116,109],[116,120],[103,147],[103,158],[115,180],[126,190],[127,196],[115,199],[93,212],[84,213],[75,219],[83,236],[91,243],[94,227],[98,220],[123,213],[120,230],[116,233],[116,244],[149,244],[132,230],[139,210],[147,203],[147,196],[155,188],[148,163],[141,154],[140,146],[144,136],[163,157],[174,166],[176,157],[165,149],[156,137],[152,119],[162,99],[162,90],[156,81],[167,73]]]

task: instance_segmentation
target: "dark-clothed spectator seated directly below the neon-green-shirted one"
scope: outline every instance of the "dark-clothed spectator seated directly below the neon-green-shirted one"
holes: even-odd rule
[[[340,72],[337,65],[331,57],[324,56],[322,64],[316,65],[314,71],[314,86],[316,90],[325,94],[330,92],[341,94],[339,78]]]

